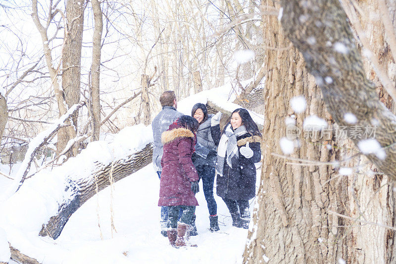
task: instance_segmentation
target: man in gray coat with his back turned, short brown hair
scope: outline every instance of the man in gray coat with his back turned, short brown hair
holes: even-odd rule
[[[163,154],[163,145],[161,142],[161,135],[169,128],[179,116],[183,115],[176,110],[177,100],[173,91],[165,91],[159,97],[162,110],[152,120],[152,133],[154,137],[154,150],[152,152],[152,164],[154,170],[157,172],[158,177],[161,177],[161,158]],[[161,234],[167,236],[166,230],[168,228],[168,208],[161,207]]]

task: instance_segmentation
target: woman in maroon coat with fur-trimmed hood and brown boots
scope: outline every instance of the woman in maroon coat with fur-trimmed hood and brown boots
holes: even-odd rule
[[[164,152],[161,159],[162,174],[158,206],[168,207],[170,230],[167,231],[171,245],[197,246],[187,242],[186,231],[190,231],[191,218],[198,206],[198,173],[191,160],[197,143],[198,121],[182,115],[162,133]],[[179,220],[180,209],[183,214]]]

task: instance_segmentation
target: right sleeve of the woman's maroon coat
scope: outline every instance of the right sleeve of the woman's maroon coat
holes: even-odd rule
[[[198,181],[198,173],[195,168],[193,161],[191,160],[191,155],[193,154],[193,139],[183,138],[178,144],[179,149],[179,161],[182,164],[184,172],[186,172],[189,181]]]

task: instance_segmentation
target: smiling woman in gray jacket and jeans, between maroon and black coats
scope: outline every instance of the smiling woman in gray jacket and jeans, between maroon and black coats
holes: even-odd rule
[[[193,162],[197,168],[198,176],[202,179],[203,194],[205,195],[209,210],[210,231],[220,230],[217,217],[217,204],[213,196],[213,183],[215,176],[216,145],[210,132],[212,114],[207,113],[204,104],[193,106],[191,115],[197,119],[199,128],[197,131],[196,152],[193,154]]]

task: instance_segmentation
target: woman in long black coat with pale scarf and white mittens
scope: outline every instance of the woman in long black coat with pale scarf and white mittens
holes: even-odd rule
[[[228,207],[233,226],[248,228],[249,199],[255,196],[261,133],[248,111],[238,108],[223,130],[217,149],[217,195]]]

